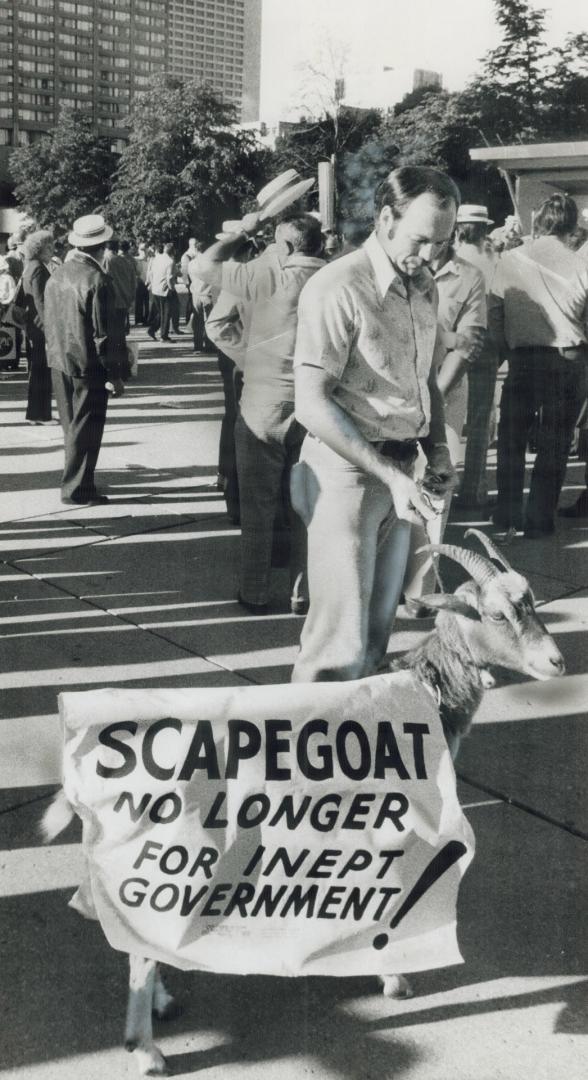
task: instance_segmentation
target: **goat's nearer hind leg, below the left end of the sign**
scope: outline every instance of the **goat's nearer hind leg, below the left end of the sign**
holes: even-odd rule
[[[130,956],[129,1004],[124,1031],[125,1050],[135,1051],[142,1076],[166,1076],[168,1064],[153,1042],[151,1011],[155,1004],[157,963]]]

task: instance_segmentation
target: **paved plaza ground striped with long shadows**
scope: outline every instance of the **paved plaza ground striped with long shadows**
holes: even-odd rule
[[[189,336],[139,341],[138,378],[109,405],[97,483],[65,508],[59,427],[24,423],[26,377],[0,378],[0,1077],[137,1075],[122,1048],[126,962],[67,907],[77,825],[43,847],[59,782],[56,696],[98,687],[286,681],[302,620],[276,571],[267,616],[236,603],[238,529],[215,487],[223,411],[213,356]],[[563,501],[583,486],[572,459]],[[454,514],[447,538],[487,523]],[[585,789],[588,518],[508,549],[565,658],[550,683],[500,680],[458,761],[477,838],[464,881],[463,966],[375,980],[169,972],[182,1015],[158,1025],[174,1076],[202,1080],[580,1080],[586,1076]],[[447,578],[451,579],[450,570]],[[390,651],[430,623],[399,621]]]

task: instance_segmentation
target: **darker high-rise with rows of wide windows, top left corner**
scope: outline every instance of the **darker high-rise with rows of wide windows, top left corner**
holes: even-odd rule
[[[166,39],[166,0],[0,0],[0,145],[34,141],[64,105],[122,138]]]

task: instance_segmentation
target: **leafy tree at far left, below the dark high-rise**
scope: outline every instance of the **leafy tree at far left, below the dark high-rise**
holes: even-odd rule
[[[21,206],[57,234],[77,217],[101,211],[108,198],[117,157],[96,135],[88,112],[63,109],[51,134],[13,150],[10,171]]]

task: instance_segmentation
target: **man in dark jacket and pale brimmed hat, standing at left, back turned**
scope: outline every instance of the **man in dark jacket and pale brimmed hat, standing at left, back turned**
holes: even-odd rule
[[[94,483],[108,394],[119,397],[129,377],[115,292],[102,266],[112,230],[99,214],[79,217],[69,233],[75,248],[45,288],[45,340],[53,390],[65,435],[62,502],[108,502]]]

